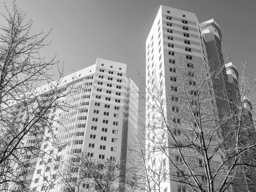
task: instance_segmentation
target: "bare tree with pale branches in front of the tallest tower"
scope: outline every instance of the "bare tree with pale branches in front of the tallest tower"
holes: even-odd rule
[[[225,65],[213,65],[179,58],[176,67],[165,67],[169,75],[142,77],[146,146],[137,149],[142,166],[134,172],[144,170],[139,175],[147,191],[164,190],[167,183],[178,192],[253,190],[254,99],[247,98],[255,96],[256,79],[246,73],[246,62],[239,82]],[[130,183],[137,186],[137,178]]]

